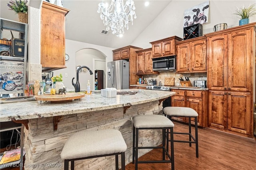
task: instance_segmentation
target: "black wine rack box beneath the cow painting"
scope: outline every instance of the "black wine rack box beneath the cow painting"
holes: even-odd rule
[[[183,28],[183,40],[196,38],[203,35],[203,26],[201,24],[194,24],[192,26]]]

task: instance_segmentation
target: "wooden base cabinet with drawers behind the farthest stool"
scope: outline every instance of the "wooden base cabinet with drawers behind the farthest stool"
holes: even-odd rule
[[[180,89],[172,89],[172,91],[176,92],[176,94],[171,97],[171,106],[194,109],[198,113],[197,125],[207,127],[208,91]],[[173,117],[173,119],[188,123],[188,118],[185,117]],[[191,121],[194,122],[194,118]]]

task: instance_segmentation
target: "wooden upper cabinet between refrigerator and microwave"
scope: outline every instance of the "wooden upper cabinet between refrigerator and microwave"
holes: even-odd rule
[[[153,71],[152,66],[152,48],[136,51],[137,53],[137,74],[159,74],[158,71]]]

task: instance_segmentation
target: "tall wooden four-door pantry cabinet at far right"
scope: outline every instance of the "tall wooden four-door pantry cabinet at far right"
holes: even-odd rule
[[[206,34],[208,127],[253,137],[255,26]]]

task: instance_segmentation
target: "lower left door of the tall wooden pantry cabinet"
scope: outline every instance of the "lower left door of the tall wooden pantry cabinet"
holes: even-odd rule
[[[208,125],[227,129],[227,92],[210,91],[208,105]]]

